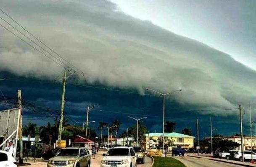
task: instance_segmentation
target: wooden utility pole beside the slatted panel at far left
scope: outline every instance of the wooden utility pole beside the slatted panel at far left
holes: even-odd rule
[[[21,90],[18,90],[18,107],[22,108]],[[19,128],[18,128],[18,138],[19,138],[19,159],[18,160],[19,160],[19,164],[23,164],[22,112],[21,112],[21,115],[20,115],[20,122],[19,122]]]

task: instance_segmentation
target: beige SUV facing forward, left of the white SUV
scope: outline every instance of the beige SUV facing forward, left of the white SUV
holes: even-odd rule
[[[60,149],[50,158],[47,167],[90,167],[91,155],[87,148],[69,147]]]

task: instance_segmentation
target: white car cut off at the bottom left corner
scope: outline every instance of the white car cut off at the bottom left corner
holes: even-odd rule
[[[0,150],[0,167],[17,167],[11,153]]]

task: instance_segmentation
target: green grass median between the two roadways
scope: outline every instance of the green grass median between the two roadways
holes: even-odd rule
[[[153,167],[186,167],[182,162],[171,157],[154,157]]]

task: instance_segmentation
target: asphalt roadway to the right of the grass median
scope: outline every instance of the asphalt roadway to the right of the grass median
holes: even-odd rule
[[[187,167],[241,167],[240,165],[235,164],[228,164],[224,162],[216,162],[205,158],[195,158],[195,157],[175,157],[171,156],[173,158],[178,159],[183,164],[185,164]]]

